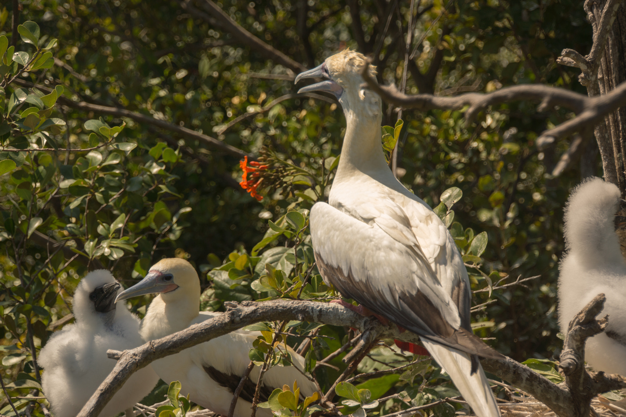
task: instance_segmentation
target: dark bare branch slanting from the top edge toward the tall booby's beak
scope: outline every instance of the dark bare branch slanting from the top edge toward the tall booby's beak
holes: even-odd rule
[[[301,73],[302,71],[306,71],[308,69],[304,65],[297,63],[284,53],[280,52],[278,49],[275,49],[273,46],[265,43],[261,39],[257,38],[257,36],[254,36],[252,33],[242,28],[211,0],[198,1],[200,7],[208,14],[195,8],[192,4],[192,0],[184,0],[180,3],[180,5],[183,9],[192,13],[196,18],[203,19],[213,26],[217,26],[217,28],[232,34],[233,38],[237,39],[240,43],[249,46],[250,50],[261,54],[267,59],[273,59],[275,63],[281,64],[295,73]]]

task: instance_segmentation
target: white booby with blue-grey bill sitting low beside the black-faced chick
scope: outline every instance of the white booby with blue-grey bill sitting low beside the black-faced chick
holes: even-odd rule
[[[140,334],[145,341],[163,338],[223,314],[200,311],[200,279],[193,266],[184,259],[162,259],[150,268],[140,283],[120,293],[116,301],[153,293],[158,293],[158,296],[152,300],[141,321]],[[181,394],[189,394],[194,403],[226,416],[233,391],[250,363],[249,351],[257,336],[260,333],[254,331],[228,333],[158,359],[152,367],[163,381],[180,381]],[[290,353],[295,365],[300,370],[304,369],[302,356],[294,351]],[[252,369],[237,401],[235,417],[250,415],[259,370],[259,366]],[[317,390],[315,384],[294,366],[274,366],[263,376],[261,401],[267,401],[274,388],[282,388],[284,384],[291,386],[294,381],[306,396]],[[272,413],[269,409],[260,408],[257,415],[269,417]]]

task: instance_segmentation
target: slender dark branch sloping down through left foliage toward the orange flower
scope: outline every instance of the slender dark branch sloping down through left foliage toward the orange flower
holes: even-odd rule
[[[21,79],[16,79],[13,81],[15,84],[19,86],[28,87],[28,88],[37,88],[46,93],[50,93],[51,89],[46,86],[41,86],[39,84],[29,83],[28,81],[24,81]],[[70,99],[64,98],[63,96],[59,97],[56,101],[58,104],[63,104],[63,106],[68,106],[74,109],[79,109],[83,111],[93,111],[94,113],[100,114],[110,114],[111,116],[116,116],[119,118],[129,118],[134,121],[142,124],[148,124],[157,126],[159,128],[168,130],[170,132],[178,133],[180,136],[189,139],[197,139],[208,146],[215,148],[223,153],[227,153],[229,155],[235,156],[236,158],[244,158],[244,156],[248,156],[249,158],[254,158],[252,155],[242,151],[239,148],[235,148],[234,146],[230,146],[227,143],[223,143],[222,141],[212,138],[211,136],[207,136],[205,134],[199,133],[192,129],[183,128],[183,126],[177,126],[176,124],[169,123],[164,120],[158,120],[151,116],[147,116],[146,114],[137,113],[136,111],[130,111],[126,109],[121,109],[117,107],[108,107],[108,106],[100,106],[100,104],[91,104],[86,103],[85,101],[71,101]]]

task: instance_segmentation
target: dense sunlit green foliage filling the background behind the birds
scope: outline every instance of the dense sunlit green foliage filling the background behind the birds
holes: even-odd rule
[[[37,392],[36,352],[70,318],[73,290],[89,269],[112,269],[130,286],[156,260],[184,257],[200,273],[205,309],[223,309],[228,300],[337,296],[312,268],[306,229],[307,210],[326,198],[341,149],[344,118],[334,99],[296,96],[298,68],[268,59],[219,20],[203,18],[206,11],[183,3],[19,4],[28,33],[18,37],[11,31],[12,5],[0,6],[6,36],[0,38],[6,39],[4,47],[0,40],[0,356],[9,394]],[[311,68],[353,48],[373,54],[379,81],[402,83],[408,1],[225,0],[217,6],[293,63]],[[582,1],[423,1],[414,3],[411,21],[409,51],[416,48],[416,54],[406,69],[409,93],[488,92],[524,83],[584,93],[577,70],[555,63],[563,48],[590,48]],[[396,126],[398,116],[386,108],[383,124]],[[562,346],[555,310],[562,207],[583,176],[602,174],[597,151],[588,149],[581,166],[553,178],[549,173],[568,141],[540,153],[534,140],[565,120],[565,111],[538,113],[522,102],[488,109],[471,126],[462,116],[404,111],[402,128],[386,131],[400,143],[396,174],[433,208],[446,189],[458,188],[446,194],[454,204],[444,201],[438,213],[448,219],[468,264],[480,266],[468,267],[474,304],[488,303],[473,312],[477,334],[553,374],[545,359]],[[181,128],[240,151],[225,152]],[[252,167],[264,179],[261,201],[239,185],[244,155],[265,166]],[[539,278],[493,289],[518,276]],[[149,300],[133,299],[133,311],[145,313]],[[275,331],[280,323],[267,326]],[[309,366],[354,337],[331,326],[285,326],[292,329],[287,343],[312,352]],[[314,335],[311,347],[302,344],[307,334]],[[263,363],[285,360],[257,353]],[[317,368],[323,388],[344,369],[341,357],[329,361],[339,370]],[[359,371],[422,359],[381,346]],[[367,409],[382,414],[454,394],[434,363],[414,363],[386,378],[364,382],[369,397],[341,392],[359,404],[398,394]],[[374,393],[376,386],[386,389]],[[159,389],[151,402],[167,393]],[[0,413],[13,415],[6,396],[0,401]],[[14,404],[43,415],[36,401]],[[439,415],[460,406],[437,407]],[[305,413],[302,404],[294,413]]]

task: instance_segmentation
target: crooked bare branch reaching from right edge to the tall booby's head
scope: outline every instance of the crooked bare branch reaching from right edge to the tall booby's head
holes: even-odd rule
[[[438,97],[433,94],[416,94],[408,96],[396,89],[395,86],[379,86],[364,69],[362,76],[370,89],[378,93],[388,103],[401,108],[414,108],[421,111],[430,109],[460,110],[465,106],[466,123],[471,123],[478,112],[487,106],[508,103],[515,100],[541,101],[540,110],[553,106],[561,106],[577,113],[577,117],[559,124],[555,128],[541,133],[536,140],[537,146],[545,147],[557,139],[565,138],[577,131],[585,131],[590,126],[603,121],[606,114],[626,105],[626,83],[620,84],[609,94],[598,97],[587,97],[562,88],[526,84],[503,88],[493,93],[466,93],[456,97]]]

